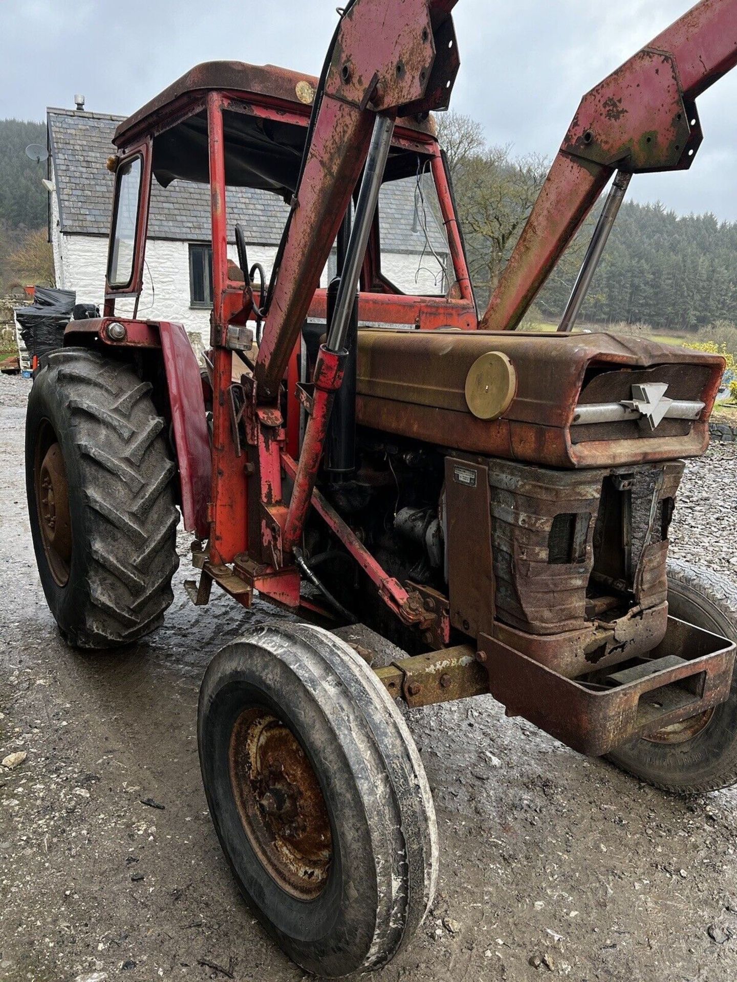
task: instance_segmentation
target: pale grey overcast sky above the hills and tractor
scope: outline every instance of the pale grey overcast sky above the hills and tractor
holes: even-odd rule
[[[317,74],[336,0],[0,0],[0,118],[45,108],[128,114],[201,61]],[[489,141],[552,157],[581,96],[689,0],[459,0],[452,105]],[[699,101],[706,139],[690,172],[639,175],[630,196],[737,220],[737,71]]]

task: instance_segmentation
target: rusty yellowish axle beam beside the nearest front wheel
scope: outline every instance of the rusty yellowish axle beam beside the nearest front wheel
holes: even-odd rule
[[[390,695],[403,698],[413,709],[489,691],[487,673],[467,644],[405,658],[374,671]]]

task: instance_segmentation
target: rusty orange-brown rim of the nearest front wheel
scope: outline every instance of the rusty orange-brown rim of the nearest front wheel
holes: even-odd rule
[[[236,720],[230,783],[244,831],[271,878],[298,900],[322,893],[332,861],[325,799],[292,731],[255,706]]]

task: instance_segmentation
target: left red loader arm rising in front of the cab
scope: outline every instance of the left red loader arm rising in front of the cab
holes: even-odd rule
[[[255,365],[273,399],[369,152],[377,113],[447,106],[458,70],[456,0],[354,0],[315,94],[312,139],[281,250]]]

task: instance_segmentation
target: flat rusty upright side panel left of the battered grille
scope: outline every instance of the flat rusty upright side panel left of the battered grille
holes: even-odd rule
[[[445,537],[450,623],[471,637],[490,631],[494,573],[487,463],[445,458]]]

